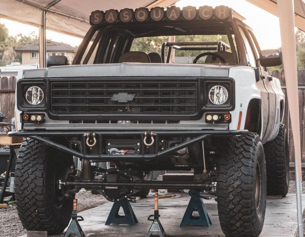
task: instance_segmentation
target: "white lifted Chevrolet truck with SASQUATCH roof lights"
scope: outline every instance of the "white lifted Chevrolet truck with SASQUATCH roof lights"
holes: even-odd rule
[[[18,73],[9,135],[25,137],[15,173],[23,226],[62,232],[81,188],[109,201],[175,188],[215,196],[226,236],[258,236],[266,195],[289,185],[285,98],[267,70],[281,51],[260,50],[225,6],[110,9],[90,22],[72,65],[50,56],[48,68]],[[184,57],[173,63],[173,51]],[[152,180],[162,170],[194,175]]]

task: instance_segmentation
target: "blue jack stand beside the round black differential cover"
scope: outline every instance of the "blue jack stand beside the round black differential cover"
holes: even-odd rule
[[[120,207],[123,208],[125,216],[119,215]],[[105,225],[110,225],[111,223],[135,225],[137,222],[138,219],[135,216],[129,201],[127,198],[124,198],[113,203]]]

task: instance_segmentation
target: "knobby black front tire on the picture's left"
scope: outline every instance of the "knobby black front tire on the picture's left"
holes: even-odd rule
[[[48,231],[58,234],[69,224],[70,217],[58,221],[46,195],[52,195],[45,188],[45,172],[48,159],[48,147],[27,138],[19,150],[15,171],[16,206],[24,228],[32,231]],[[66,205],[66,213],[72,212],[72,205]]]

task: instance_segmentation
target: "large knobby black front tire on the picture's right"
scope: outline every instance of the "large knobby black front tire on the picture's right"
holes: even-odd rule
[[[218,162],[217,207],[228,237],[255,237],[264,225],[266,167],[257,134],[228,138]]]

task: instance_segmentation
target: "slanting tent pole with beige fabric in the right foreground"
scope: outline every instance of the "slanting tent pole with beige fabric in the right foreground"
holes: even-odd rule
[[[299,117],[299,97],[298,78],[296,70],[296,37],[294,32],[294,5],[293,0],[277,1],[278,17],[280,21],[283,63],[286,83],[287,99],[290,110],[290,121],[294,141],[295,172],[296,172],[296,206],[298,217],[298,233],[303,236],[302,221],[302,167],[301,167],[301,142],[300,142],[300,117]]]

